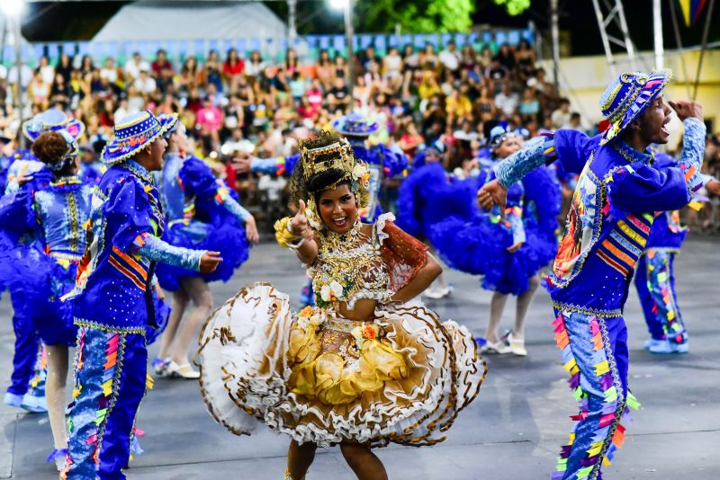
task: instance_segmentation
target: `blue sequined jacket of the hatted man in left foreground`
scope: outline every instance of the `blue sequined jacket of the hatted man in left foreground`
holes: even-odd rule
[[[157,262],[198,270],[202,251],[160,240],[165,218],[153,177],[129,160],[113,165],[95,187],[90,242],[78,268],[76,324],[144,333]],[[153,317],[150,315],[150,317]]]

